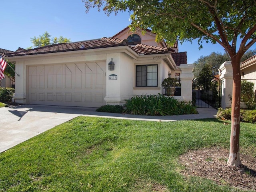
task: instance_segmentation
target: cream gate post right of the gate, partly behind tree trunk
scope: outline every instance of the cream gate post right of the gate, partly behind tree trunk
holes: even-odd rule
[[[221,64],[219,68],[220,82],[221,82],[221,107],[231,107],[231,101],[228,95],[232,94],[233,89],[233,70],[231,61],[226,61]]]

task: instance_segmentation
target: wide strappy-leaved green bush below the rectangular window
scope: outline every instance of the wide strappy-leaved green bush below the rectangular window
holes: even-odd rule
[[[124,112],[135,115],[165,116],[197,113],[196,107],[192,106],[191,102],[188,104],[178,102],[172,97],[160,94],[134,96],[126,100],[124,107]]]

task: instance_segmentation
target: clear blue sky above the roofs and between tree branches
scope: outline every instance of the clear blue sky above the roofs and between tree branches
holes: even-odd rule
[[[95,8],[86,13],[82,0],[0,0],[0,3],[0,48],[11,51],[32,46],[30,38],[46,31],[51,38],[64,36],[77,42],[112,37],[131,23],[128,12],[107,16]],[[187,52],[188,64],[212,52],[224,53],[222,46],[210,43],[199,50],[197,40],[178,46],[179,52]],[[256,44],[250,48],[254,49]]]

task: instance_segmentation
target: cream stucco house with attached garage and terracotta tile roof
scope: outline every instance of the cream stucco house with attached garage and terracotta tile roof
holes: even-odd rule
[[[178,52],[177,43],[173,48],[164,42],[156,44],[155,37],[150,30],[143,36],[125,28],[112,38],[10,53],[8,60],[15,62],[20,74],[14,99],[61,106],[124,104],[134,95],[164,94],[162,80],[182,78],[184,70],[184,92],[179,99],[191,100],[193,66],[186,65],[186,52]]]

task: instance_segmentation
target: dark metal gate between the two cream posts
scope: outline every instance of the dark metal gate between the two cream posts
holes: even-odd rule
[[[192,82],[192,102],[199,108],[221,107],[221,83],[220,79],[213,76],[212,79]]]

